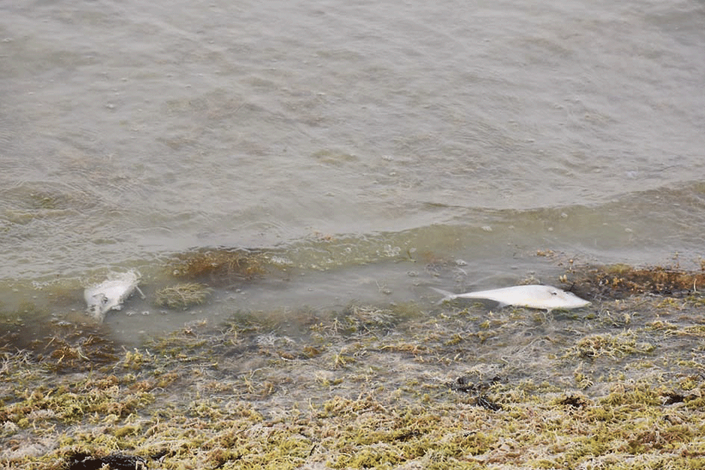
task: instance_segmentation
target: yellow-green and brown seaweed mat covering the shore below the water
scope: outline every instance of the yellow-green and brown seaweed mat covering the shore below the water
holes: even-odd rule
[[[599,300],[548,315],[475,304],[353,304],[281,321],[236,312],[129,349],[104,325],[54,323],[42,336],[7,323],[0,466],[703,469],[699,292],[654,295],[661,269],[649,284],[603,268],[624,279],[610,285],[652,286],[609,295],[590,290],[604,285],[590,269],[569,274]]]

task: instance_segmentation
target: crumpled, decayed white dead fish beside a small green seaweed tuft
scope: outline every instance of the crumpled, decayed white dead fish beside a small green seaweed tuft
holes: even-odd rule
[[[134,270],[126,273],[114,273],[108,280],[86,287],[86,290],[83,291],[83,298],[88,304],[88,314],[102,322],[109,310],[122,309],[123,302],[135,290],[140,292],[140,296],[144,299],[145,295],[142,294],[140,287],[137,287],[140,278],[140,273]]]

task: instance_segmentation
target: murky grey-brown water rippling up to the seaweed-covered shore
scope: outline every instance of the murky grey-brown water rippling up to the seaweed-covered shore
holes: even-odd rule
[[[535,254],[705,254],[701,1],[13,1],[0,6],[0,306],[174,254],[264,249],[286,273],[161,314],[416,302]],[[125,312],[135,315],[126,316]],[[142,313],[149,312],[149,315]]]

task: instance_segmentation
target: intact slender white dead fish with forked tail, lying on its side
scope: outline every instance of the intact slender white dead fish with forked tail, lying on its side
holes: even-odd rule
[[[579,309],[589,305],[590,302],[581,299],[572,292],[558,289],[551,285],[515,285],[501,289],[479,290],[465,294],[453,294],[446,290],[431,287],[436,292],[445,295],[443,300],[450,299],[489,299],[499,302],[499,307],[514,305],[515,307],[529,307],[530,309]],[[442,301],[441,301],[442,302]]]

